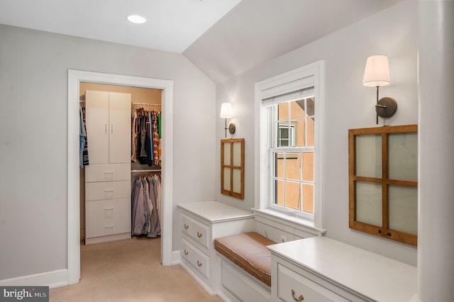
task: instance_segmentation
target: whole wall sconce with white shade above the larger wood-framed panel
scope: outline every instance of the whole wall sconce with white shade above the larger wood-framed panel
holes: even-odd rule
[[[396,100],[384,97],[378,99],[378,88],[389,84],[389,65],[388,57],[386,55],[372,55],[367,57],[366,67],[364,69],[364,77],[362,78],[364,86],[377,87],[377,104],[375,104],[375,111],[381,118],[389,118],[397,111]]]

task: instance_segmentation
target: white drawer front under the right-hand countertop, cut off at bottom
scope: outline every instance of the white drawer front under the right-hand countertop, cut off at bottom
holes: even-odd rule
[[[303,301],[303,298],[304,302],[348,301],[280,263],[277,264],[277,296],[289,302]]]

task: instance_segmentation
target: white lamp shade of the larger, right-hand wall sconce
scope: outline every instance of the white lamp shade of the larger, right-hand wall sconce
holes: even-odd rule
[[[389,65],[386,55],[367,57],[362,84],[373,87],[389,84]]]

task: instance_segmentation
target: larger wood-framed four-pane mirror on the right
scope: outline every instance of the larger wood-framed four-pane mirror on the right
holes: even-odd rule
[[[349,226],[417,245],[418,126],[348,130]]]

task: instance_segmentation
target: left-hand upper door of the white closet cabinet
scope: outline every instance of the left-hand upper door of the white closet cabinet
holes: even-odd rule
[[[109,92],[86,91],[85,108],[89,162],[107,164],[109,163]]]

